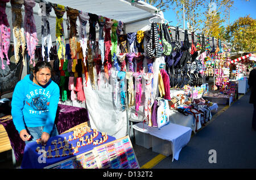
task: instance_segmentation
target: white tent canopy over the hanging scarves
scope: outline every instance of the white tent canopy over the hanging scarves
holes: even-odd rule
[[[40,2],[40,0],[36,0]],[[65,7],[72,7],[77,10],[84,12],[90,12],[92,14],[101,15],[106,18],[121,20],[125,24],[124,31],[128,32],[137,32],[139,29],[150,24],[149,19],[155,16],[155,13],[158,11],[154,6],[148,5],[143,1],[136,1],[130,3],[130,1],[124,0],[80,0],[80,1],[70,1],[70,0],[49,0],[48,2],[56,3],[63,5]],[[24,6],[22,6],[23,18],[24,18]],[[34,18],[36,22],[36,29],[38,33],[39,44],[41,44],[41,16],[39,3],[36,3],[36,6],[33,8]],[[7,3],[6,14],[10,24],[11,29],[13,28],[11,20],[11,3]],[[55,42],[55,27],[56,27],[56,15],[52,9],[50,13],[49,24],[50,31],[52,36],[52,41]],[[63,16],[64,20],[67,20],[67,14]],[[68,38],[67,24],[63,22],[65,38]],[[79,27],[79,20],[77,20],[77,27]],[[89,23],[87,23],[87,32],[89,33]],[[13,33],[11,33],[11,42],[13,42]]]

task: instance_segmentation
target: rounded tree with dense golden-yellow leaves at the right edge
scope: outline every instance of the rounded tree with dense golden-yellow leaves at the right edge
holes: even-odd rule
[[[256,19],[247,15],[228,25],[225,39],[231,42],[237,51],[256,51]]]

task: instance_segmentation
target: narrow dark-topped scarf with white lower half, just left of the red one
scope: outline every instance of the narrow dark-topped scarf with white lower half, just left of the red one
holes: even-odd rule
[[[104,68],[104,61],[105,61],[105,46],[104,46],[104,25],[106,23],[106,20],[103,16],[98,16],[98,25],[100,27],[100,30],[98,32],[98,48],[101,50],[101,63],[102,63],[102,70]]]

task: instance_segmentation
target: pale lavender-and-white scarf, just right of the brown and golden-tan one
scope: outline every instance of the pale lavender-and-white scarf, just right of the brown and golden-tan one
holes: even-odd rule
[[[87,53],[87,36],[86,36],[86,24],[89,20],[90,16],[88,15],[88,12],[82,12],[79,11],[79,22],[80,22],[80,28],[79,28],[79,42],[82,48],[82,55],[84,56],[84,65],[86,65],[85,58]]]

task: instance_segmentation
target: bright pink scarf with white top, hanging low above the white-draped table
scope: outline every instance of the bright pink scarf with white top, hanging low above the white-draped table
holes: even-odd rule
[[[141,96],[142,96],[142,73],[140,72],[135,72],[133,74],[134,79],[135,79],[135,115],[138,117],[138,111],[139,111],[139,106],[141,105]]]

